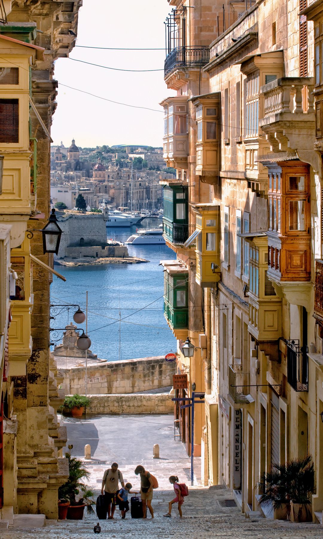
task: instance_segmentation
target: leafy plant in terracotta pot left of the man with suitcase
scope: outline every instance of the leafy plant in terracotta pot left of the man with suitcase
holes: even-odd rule
[[[89,471],[81,459],[72,457],[71,451],[65,453],[65,457],[68,459],[69,477],[58,489],[58,495],[61,501],[67,503],[67,519],[82,520],[85,507],[88,514],[94,514],[94,490],[84,482],[89,478]]]

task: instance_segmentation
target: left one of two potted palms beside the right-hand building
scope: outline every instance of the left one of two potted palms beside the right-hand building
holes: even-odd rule
[[[257,483],[261,494],[259,506],[271,506],[273,518],[278,520],[289,520],[290,515],[291,506],[284,472],[285,466],[273,464],[272,471],[264,473]]]

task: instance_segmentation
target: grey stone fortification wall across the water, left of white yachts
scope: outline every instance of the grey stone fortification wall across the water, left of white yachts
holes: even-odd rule
[[[66,256],[67,247],[98,245],[104,249],[107,245],[106,220],[103,213],[68,213],[67,217],[60,218],[59,226],[63,234],[58,257]],[[80,256],[80,250],[78,256]]]

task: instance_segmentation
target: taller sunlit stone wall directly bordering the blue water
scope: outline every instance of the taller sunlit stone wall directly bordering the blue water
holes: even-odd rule
[[[85,367],[60,369],[68,394],[85,393]],[[149,391],[173,385],[176,364],[164,356],[95,363],[87,368],[87,392],[93,395]]]

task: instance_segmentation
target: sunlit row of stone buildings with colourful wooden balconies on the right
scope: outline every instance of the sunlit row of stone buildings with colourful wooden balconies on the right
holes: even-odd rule
[[[322,5],[241,3],[237,16],[224,4],[219,28],[212,2],[169,3],[164,157],[177,179],[163,182],[163,226],[177,260],[164,275],[178,291],[165,316],[187,395],[205,392],[194,450],[205,484],[224,483],[243,512],[273,464],[311,454],[321,521]]]

